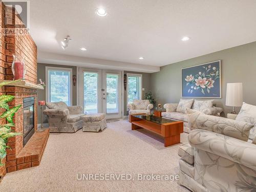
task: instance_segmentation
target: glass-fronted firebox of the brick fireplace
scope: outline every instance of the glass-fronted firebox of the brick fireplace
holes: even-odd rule
[[[23,146],[35,133],[34,129],[34,97],[23,99]]]

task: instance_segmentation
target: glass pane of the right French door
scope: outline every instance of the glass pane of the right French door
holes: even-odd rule
[[[117,74],[106,74],[106,113],[118,113]]]

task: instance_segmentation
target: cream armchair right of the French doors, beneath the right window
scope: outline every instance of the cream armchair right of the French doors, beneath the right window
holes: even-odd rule
[[[129,116],[134,114],[150,114],[151,109],[154,105],[150,103],[149,100],[138,100],[134,99],[133,103],[127,104],[127,109],[129,110]]]

